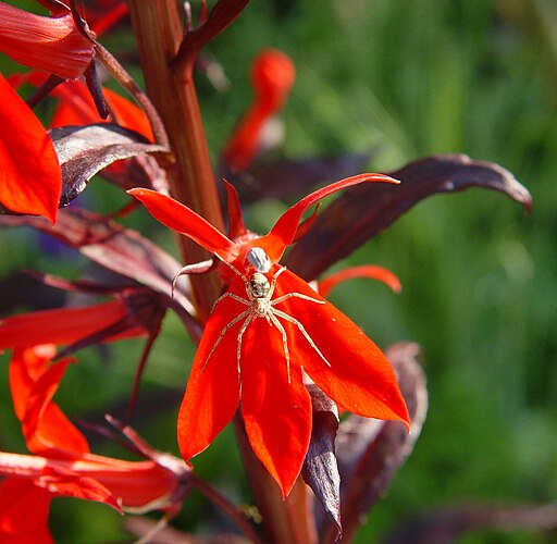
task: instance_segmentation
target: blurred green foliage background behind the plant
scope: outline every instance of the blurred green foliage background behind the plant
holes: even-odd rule
[[[117,55],[119,48],[129,50],[131,40],[122,26],[103,42]],[[359,280],[339,286],[332,300],[380,346],[418,342],[430,393],[414,452],[358,542],[376,542],[406,517],[434,507],[555,500],[557,5],[552,0],[253,1],[209,48],[230,90],[219,92],[198,77],[215,159],[250,101],[251,59],[267,47],[282,49],[297,66],[282,114],[288,158],[371,150],[369,169],[385,171],[426,154],[463,152],[510,170],[534,198],[530,215],[486,190],[431,198],[343,263],[373,262],[399,276],[400,295]],[[15,69],[2,62],[3,73]],[[100,181],[91,184],[88,198],[100,210],[124,202]],[[250,209],[249,225],[264,232],[284,208],[262,202]],[[138,213],[128,223],[144,233],[156,228]],[[177,256],[168,232],[158,228],[156,238]],[[2,275],[21,268],[69,277],[89,273],[83,259],[45,255],[40,244],[30,233],[3,231]],[[85,350],[57,400],[73,418],[102,413],[128,393],[139,351],[135,343]],[[157,448],[177,453],[173,401],[193,354],[169,316],[141,390],[169,406],[136,422]],[[0,447],[24,452],[7,361],[2,356]],[[125,455],[115,446],[99,445],[96,452]],[[199,456],[196,469],[231,498],[249,499],[230,430]],[[209,521],[203,526],[201,519]],[[177,524],[210,531],[222,522],[194,494]],[[126,537],[121,518],[108,507],[71,499],[53,502],[51,527],[59,542]],[[550,536],[480,531],[461,542],[550,542]]]

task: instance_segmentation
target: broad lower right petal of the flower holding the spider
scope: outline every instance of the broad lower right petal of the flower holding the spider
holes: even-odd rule
[[[293,334],[293,351],[315,384],[346,410],[368,418],[400,420],[409,426],[406,403],[381,349],[289,271],[281,274],[276,286],[276,296],[285,293],[300,293],[325,302],[289,298],[275,306],[304,325],[331,364],[325,363],[302,334]]]

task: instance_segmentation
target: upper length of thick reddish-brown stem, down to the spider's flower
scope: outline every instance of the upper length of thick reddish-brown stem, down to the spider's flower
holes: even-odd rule
[[[168,165],[172,196],[220,230],[224,223],[214,185],[197,94],[190,73],[171,67],[183,39],[175,0],[128,0],[147,94],[164,123],[175,162]],[[181,237],[186,263],[206,260],[205,249]],[[195,305],[207,319],[220,290],[214,274],[191,277]]]

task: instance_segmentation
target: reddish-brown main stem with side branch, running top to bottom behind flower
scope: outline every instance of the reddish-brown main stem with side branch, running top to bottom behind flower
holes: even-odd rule
[[[189,40],[184,42],[180,2],[128,0],[147,94],[164,123],[175,158],[174,164],[164,165],[172,195],[221,231],[223,218],[193,81],[193,64],[199,48],[222,32],[246,3],[247,0],[221,0],[216,4],[218,11],[212,12],[211,24],[198,34],[190,34]],[[205,250],[184,237],[181,238],[181,248],[186,263],[207,259]],[[205,322],[219,295],[220,282],[211,273],[193,274],[190,281],[196,297],[194,304],[201,322]],[[315,542],[305,484],[298,481],[288,499],[283,500],[278,486],[251,450],[239,416],[236,422],[244,465],[263,516],[268,541]]]

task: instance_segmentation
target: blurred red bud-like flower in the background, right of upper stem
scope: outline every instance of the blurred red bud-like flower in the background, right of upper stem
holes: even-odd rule
[[[256,158],[264,126],[286,102],[295,77],[293,62],[281,51],[267,49],[255,59],[251,66],[253,102],[223,153],[223,160],[231,170],[246,170]]]

